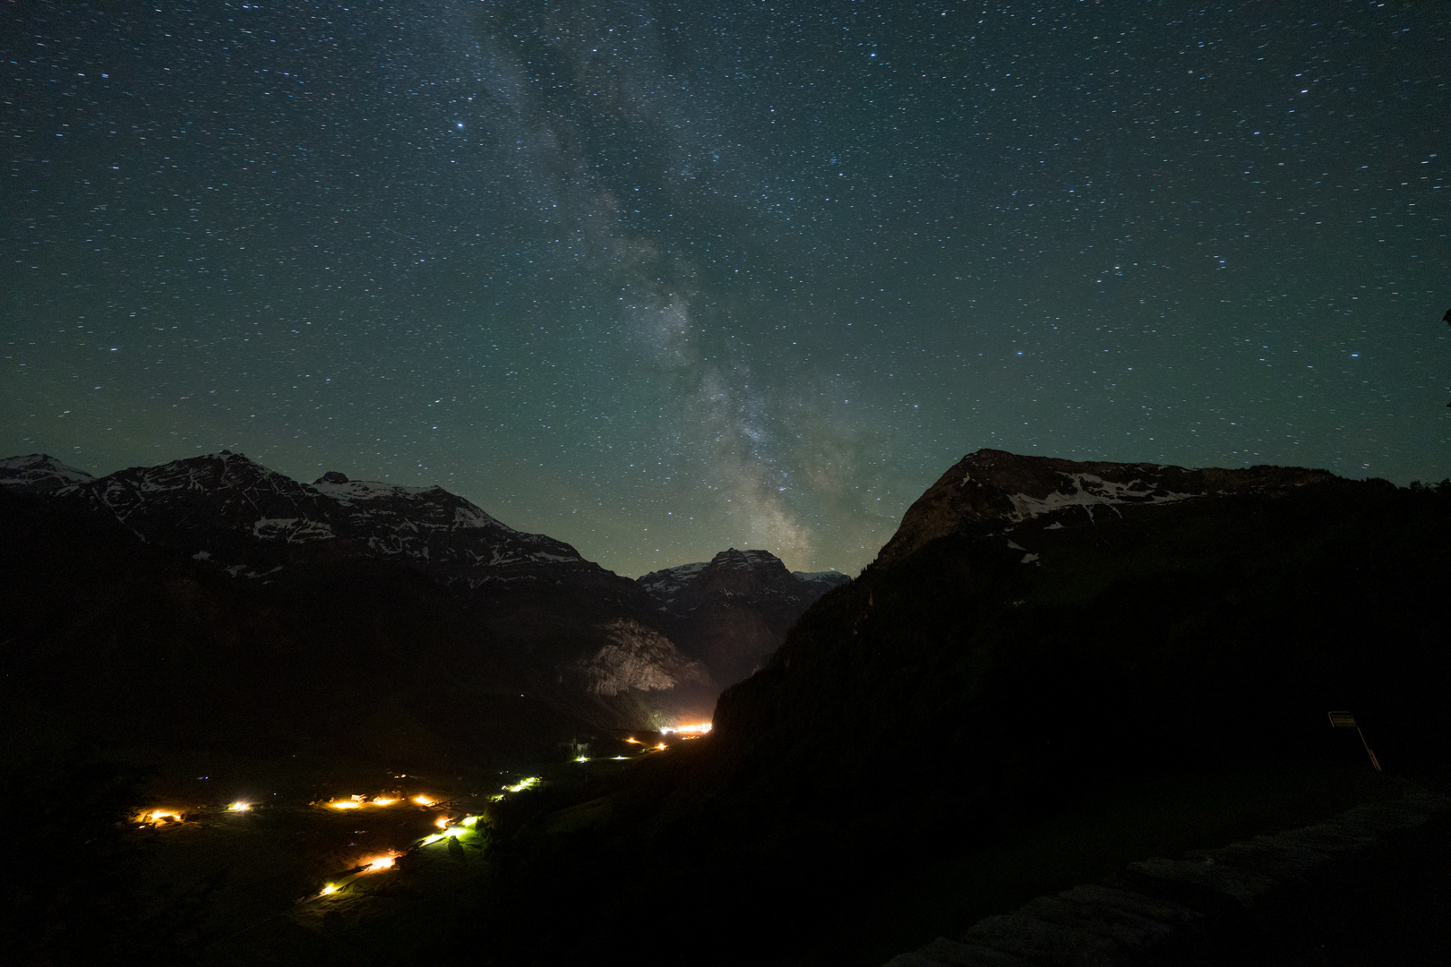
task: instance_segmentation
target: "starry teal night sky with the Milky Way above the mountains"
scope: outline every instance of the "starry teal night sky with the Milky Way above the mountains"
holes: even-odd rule
[[[856,573],[965,452],[1451,473],[1451,7],[0,6],[0,455]]]

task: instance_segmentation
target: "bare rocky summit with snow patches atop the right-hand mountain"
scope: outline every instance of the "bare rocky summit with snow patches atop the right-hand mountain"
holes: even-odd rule
[[[1283,494],[1332,480],[1323,470],[1258,465],[1246,470],[1187,470],[1165,464],[1080,462],[978,449],[959,460],[903,515],[901,526],[878,552],[894,564],[930,541],[979,520],[1007,523],[1080,507],[1156,505],[1223,494]]]

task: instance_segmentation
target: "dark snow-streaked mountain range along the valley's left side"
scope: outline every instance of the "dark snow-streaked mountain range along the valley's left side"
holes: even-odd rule
[[[708,719],[720,689],[750,668],[712,677],[699,657],[676,648],[672,629],[726,639],[759,606],[759,658],[820,593],[811,590],[817,581],[786,576],[791,594],[739,597],[720,616],[730,628],[712,632],[711,615],[676,622],[636,581],[441,487],[337,471],[303,484],[228,451],[100,478],[42,454],[15,457],[0,461],[0,493],[16,529],[10,587],[19,594],[23,586],[36,605],[10,657],[23,661],[26,649],[48,652],[64,641],[83,678],[123,665],[119,678],[97,676],[96,687],[129,692],[122,706],[145,709],[141,718],[158,728],[187,719],[183,706],[218,710],[206,725],[178,731],[193,738],[261,736],[267,728],[245,722],[264,710],[290,723],[281,732],[315,736],[328,731],[321,722],[329,715],[357,719],[341,703],[371,709],[364,718],[406,722],[392,732],[428,735],[419,748],[438,751],[447,745],[440,736],[496,715],[485,696],[519,693],[548,715],[524,713],[514,700],[498,715],[522,716],[517,744],[534,754],[530,723],[562,741],[570,729]],[[48,541],[49,531],[68,536]],[[75,584],[70,573],[89,577]],[[158,667],[148,655],[168,641],[180,652]],[[283,654],[263,658],[268,647]],[[97,648],[103,655],[91,654]],[[28,667],[46,674],[44,663]],[[438,667],[451,671],[440,676]],[[221,692],[202,702],[213,687]],[[151,713],[160,709],[167,712]],[[553,719],[541,725],[540,715]]]

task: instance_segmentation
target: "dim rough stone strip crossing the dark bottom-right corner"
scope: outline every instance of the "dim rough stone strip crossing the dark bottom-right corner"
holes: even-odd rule
[[[1145,967],[1214,963],[1246,918],[1302,892],[1387,835],[1426,823],[1447,799],[1413,790],[1335,819],[1255,837],[1183,860],[1130,863],[1107,883],[1029,900],[978,921],[961,939],[939,937],[885,967]]]

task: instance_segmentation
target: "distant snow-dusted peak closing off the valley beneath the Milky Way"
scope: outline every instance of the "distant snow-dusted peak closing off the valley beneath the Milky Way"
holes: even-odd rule
[[[769,551],[721,551],[710,561],[640,578],[651,613],[681,649],[705,663],[721,686],[755,671],[801,613],[850,578],[788,571]]]

